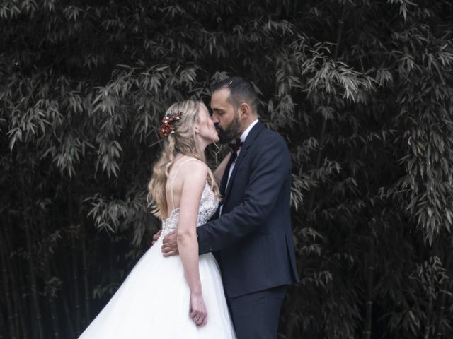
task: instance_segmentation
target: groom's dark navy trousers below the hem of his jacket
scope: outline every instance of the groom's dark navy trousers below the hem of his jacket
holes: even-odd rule
[[[287,285],[228,298],[237,339],[275,339]]]

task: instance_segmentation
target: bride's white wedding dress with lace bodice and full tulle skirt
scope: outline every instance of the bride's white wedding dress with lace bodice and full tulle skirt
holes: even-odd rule
[[[173,201],[173,192],[171,198]],[[217,206],[218,201],[206,183],[197,226],[207,222]],[[140,258],[125,282],[79,339],[236,338],[226,306],[219,266],[210,253],[203,254],[199,259],[207,324],[197,327],[189,316],[190,289],[180,257],[165,258],[161,253],[162,239],[168,232],[176,230],[178,218],[179,208],[173,207],[171,215],[162,222],[159,240]]]

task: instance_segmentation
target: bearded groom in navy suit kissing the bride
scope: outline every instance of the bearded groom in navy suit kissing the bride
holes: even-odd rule
[[[291,159],[284,139],[258,121],[249,81],[217,83],[211,109],[220,142],[234,142],[234,150],[220,184],[222,205],[197,227],[199,251],[216,252],[237,338],[275,339],[287,285],[298,280],[289,216]],[[176,234],[165,237],[162,251],[177,253]]]

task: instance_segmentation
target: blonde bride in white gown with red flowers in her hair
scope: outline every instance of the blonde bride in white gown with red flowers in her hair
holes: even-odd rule
[[[204,151],[219,136],[206,106],[192,100],[168,108],[159,132],[164,150],[148,187],[161,236],[79,339],[236,338],[219,266],[210,253],[198,256],[195,230],[217,210]],[[224,162],[215,177],[223,170]],[[162,240],[172,230],[179,256],[166,258]]]

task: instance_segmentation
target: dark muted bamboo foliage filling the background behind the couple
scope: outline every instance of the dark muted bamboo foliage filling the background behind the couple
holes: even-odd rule
[[[1,1],[0,338],[81,333],[159,227],[164,110],[232,75],[292,155],[280,338],[451,337],[450,2]]]

